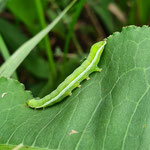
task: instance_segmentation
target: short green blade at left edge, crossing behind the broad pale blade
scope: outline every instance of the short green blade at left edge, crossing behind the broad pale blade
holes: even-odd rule
[[[6,46],[5,42],[4,42],[3,37],[2,37],[1,34],[0,34],[0,52],[1,52],[1,54],[2,54],[2,56],[3,56],[3,58],[4,58],[5,61],[10,57],[9,51],[7,49],[7,46]],[[12,74],[12,77],[14,79],[18,79],[17,73],[14,72]]]

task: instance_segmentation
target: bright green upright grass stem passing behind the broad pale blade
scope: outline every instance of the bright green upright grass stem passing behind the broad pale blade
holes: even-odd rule
[[[35,0],[35,5],[36,5],[39,22],[41,24],[42,29],[44,29],[46,27],[46,21],[44,17],[44,11],[43,11],[41,0]],[[52,73],[52,76],[55,78],[57,76],[56,64],[54,63],[53,53],[52,53],[50,39],[48,35],[45,36],[44,38],[44,44],[45,44],[45,50],[46,50],[46,54],[47,54],[48,61],[49,61],[49,66],[51,68],[51,73]]]

